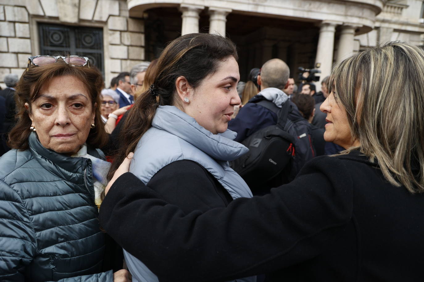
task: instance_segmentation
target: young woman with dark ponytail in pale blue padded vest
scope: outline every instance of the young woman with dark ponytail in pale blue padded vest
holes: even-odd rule
[[[234,106],[240,104],[232,41],[205,33],[181,36],[162,52],[154,77],[128,112],[109,175],[134,152],[130,171],[187,213],[252,197],[228,162],[247,152],[233,141],[236,133],[227,129]],[[133,281],[158,281],[131,250],[124,255]]]

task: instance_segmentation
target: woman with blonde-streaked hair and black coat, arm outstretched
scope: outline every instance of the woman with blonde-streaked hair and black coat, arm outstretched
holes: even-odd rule
[[[366,50],[335,66],[327,85],[324,139],[342,153],[312,159],[265,196],[190,213],[124,173],[126,159],[102,226],[160,281],[422,281],[424,51]],[[131,223],[145,227],[137,240],[119,232]]]

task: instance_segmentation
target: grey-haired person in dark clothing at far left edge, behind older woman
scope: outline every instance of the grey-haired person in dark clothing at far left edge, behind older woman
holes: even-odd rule
[[[15,87],[18,82],[17,74],[6,74],[4,77],[4,83],[6,88],[0,91],[0,96],[5,100],[5,118],[3,121],[3,127],[0,128],[1,134],[1,145],[4,152],[9,151],[10,149],[6,146],[7,132],[9,132],[14,126],[14,119],[16,114],[16,104],[15,104]],[[2,151],[2,150],[0,150]]]

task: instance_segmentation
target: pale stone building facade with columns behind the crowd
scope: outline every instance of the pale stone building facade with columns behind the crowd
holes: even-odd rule
[[[0,86],[41,52],[88,56],[108,86],[167,42],[199,31],[237,44],[242,80],[273,57],[295,79],[298,67],[321,63],[323,78],[368,47],[423,45],[423,0],[0,0]]]

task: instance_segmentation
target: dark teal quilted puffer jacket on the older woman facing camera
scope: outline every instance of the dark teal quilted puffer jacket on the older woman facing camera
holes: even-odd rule
[[[28,141],[0,158],[0,281],[112,282],[91,160],[48,150],[35,132]]]

